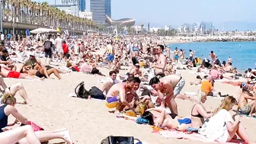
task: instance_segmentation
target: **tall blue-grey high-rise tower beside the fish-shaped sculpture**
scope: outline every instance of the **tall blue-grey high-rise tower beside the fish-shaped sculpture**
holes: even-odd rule
[[[106,14],[111,18],[111,0],[90,0],[92,21],[104,24]]]

